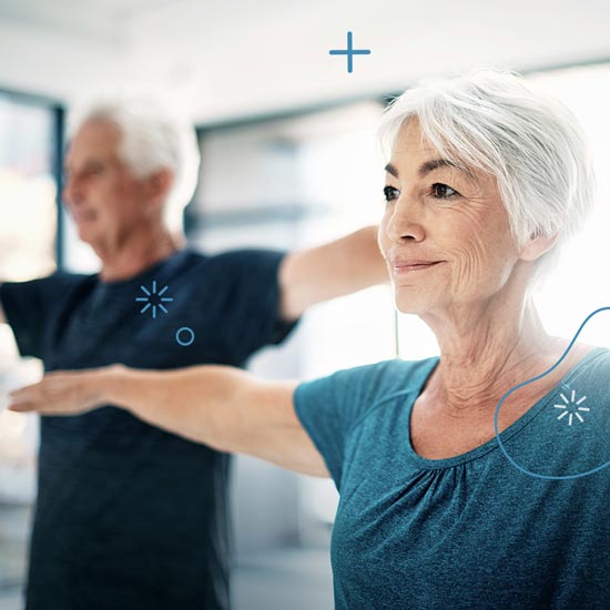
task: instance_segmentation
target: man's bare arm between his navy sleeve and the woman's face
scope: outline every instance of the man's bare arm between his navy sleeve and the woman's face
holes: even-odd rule
[[[284,319],[296,319],[316,303],[387,281],[377,227],[367,226],[284,258],[279,267],[281,314]]]

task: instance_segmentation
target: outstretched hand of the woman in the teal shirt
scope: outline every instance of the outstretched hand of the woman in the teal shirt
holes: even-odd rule
[[[122,367],[57,372],[10,393],[9,410],[42,415],[79,415],[106,404],[105,389]]]

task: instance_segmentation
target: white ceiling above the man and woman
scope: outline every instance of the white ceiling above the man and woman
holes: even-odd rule
[[[602,0],[2,0],[0,88],[163,91],[201,122],[400,89],[424,73],[610,57]],[[354,32],[347,74],[328,50]]]

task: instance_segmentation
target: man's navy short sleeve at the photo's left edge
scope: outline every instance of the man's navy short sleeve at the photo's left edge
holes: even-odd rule
[[[65,296],[69,274],[53,274],[31,282],[0,285],[0,301],[21,356],[44,359],[50,318]]]

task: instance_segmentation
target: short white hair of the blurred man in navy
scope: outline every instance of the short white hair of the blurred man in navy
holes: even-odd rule
[[[148,98],[115,98],[98,101],[82,110],[71,129],[84,123],[108,122],[121,132],[119,157],[136,177],[166,169],[173,183],[165,201],[169,228],[182,231],[184,207],[191,201],[200,166],[200,152],[193,126],[160,101]]]

